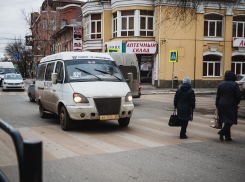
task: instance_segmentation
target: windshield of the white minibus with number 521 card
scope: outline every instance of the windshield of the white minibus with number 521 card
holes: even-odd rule
[[[82,59],[66,61],[70,82],[113,81],[125,82],[114,61]]]

